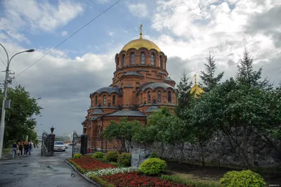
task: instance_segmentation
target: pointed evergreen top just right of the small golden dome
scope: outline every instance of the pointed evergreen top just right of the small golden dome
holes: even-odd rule
[[[218,85],[218,82],[221,81],[224,72],[221,72],[217,76],[215,76],[217,65],[214,56],[211,56],[211,54],[209,54],[209,57],[207,57],[206,60],[207,63],[204,63],[206,72],[201,71],[202,75],[200,75],[200,78],[202,79],[202,84],[200,84],[200,86],[204,91],[208,92]]]

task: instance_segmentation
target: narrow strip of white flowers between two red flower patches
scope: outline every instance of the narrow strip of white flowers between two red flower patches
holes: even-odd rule
[[[127,173],[127,172],[139,172],[139,167],[119,167],[119,168],[108,168],[108,169],[99,169],[98,171],[87,172],[85,174],[86,177],[91,178],[92,175],[102,176],[102,175],[112,175],[119,173]]]

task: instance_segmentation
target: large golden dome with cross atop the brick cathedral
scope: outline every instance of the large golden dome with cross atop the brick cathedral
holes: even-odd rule
[[[155,49],[158,52],[160,52],[161,50],[159,49],[159,47],[153,42],[150,41],[148,39],[143,39],[143,25],[141,25],[140,29],[141,29],[141,33],[140,33],[140,38],[139,39],[134,39],[132,41],[130,41],[128,44],[126,44],[121,51],[128,51],[131,48],[134,48],[136,50],[141,49],[141,48],[145,48],[145,49]]]

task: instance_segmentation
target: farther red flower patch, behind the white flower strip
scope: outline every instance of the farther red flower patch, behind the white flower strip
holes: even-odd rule
[[[72,164],[74,164],[75,167],[79,166],[82,169],[84,169],[84,171],[82,171],[82,173],[89,172],[89,171],[96,171],[98,169],[107,169],[107,168],[117,167],[115,165],[110,165],[110,164],[105,163],[103,161],[96,160],[96,159],[93,159],[93,158],[87,157],[87,156],[83,156],[83,157],[77,158],[77,159],[75,159],[75,158],[70,159],[68,161],[70,161]]]

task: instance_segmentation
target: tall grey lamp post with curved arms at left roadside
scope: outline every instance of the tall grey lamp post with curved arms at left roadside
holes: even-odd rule
[[[4,132],[5,132],[5,103],[7,98],[7,91],[8,91],[8,76],[10,74],[10,63],[11,60],[20,53],[31,53],[34,51],[34,49],[29,49],[27,51],[21,51],[19,53],[15,53],[11,59],[8,58],[8,52],[4,48],[2,44],[0,46],[3,47],[4,51],[6,52],[7,56],[7,67],[6,67],[6,76],[5,76],[5,82],[4,82],[4,94],[3,94],[3,103],[2,103],[2,110],[1,110],[1,124],[0,124],[0,158],[2,157],[2,150],[3,150],[3,144],[4,144]]]

